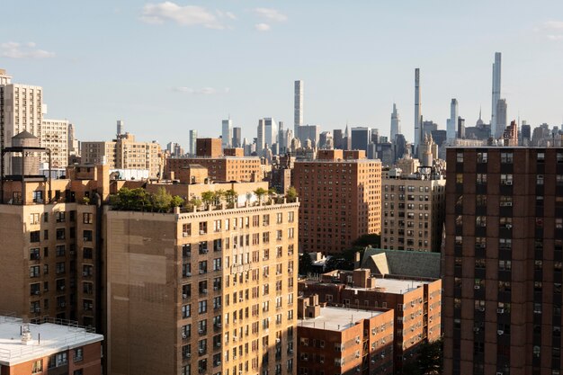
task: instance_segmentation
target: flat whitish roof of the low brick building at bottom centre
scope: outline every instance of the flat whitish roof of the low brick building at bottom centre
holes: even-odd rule
[[[327,331],[344,331],[355,326],[362,319],[377,317],[381,311],[367,311],[354,308],[320,308],[318,317],[299,320],[298,326],[324,329]]]

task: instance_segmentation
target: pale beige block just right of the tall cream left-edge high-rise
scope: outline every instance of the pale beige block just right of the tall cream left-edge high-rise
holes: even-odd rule
[[[47,120],[41,121],[41,147],[51,151],[51,167],[65,168],[68,165],[68,121]],[[41,162],[49,162],[49,156],[43,155]]]

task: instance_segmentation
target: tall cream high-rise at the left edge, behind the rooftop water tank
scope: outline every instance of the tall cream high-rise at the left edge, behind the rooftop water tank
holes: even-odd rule
[[[0,69],[0,149],[10,147],[12,137],[24,130],[41,138],[44,112],[40,86],[13,84],[12,77]],[[11,163],[7,157],[0,163],[4,172],[9,173]]]

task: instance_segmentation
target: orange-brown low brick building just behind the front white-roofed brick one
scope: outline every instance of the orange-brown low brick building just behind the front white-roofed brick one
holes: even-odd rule
[[[418,345],[441,336],[442,281],[386,274],[371,277],[371,270],[327,272],[320,281],[299,281],[299,292],[318,295],[321,303],[345,308],[394,310],[394,368],[416,354]]]

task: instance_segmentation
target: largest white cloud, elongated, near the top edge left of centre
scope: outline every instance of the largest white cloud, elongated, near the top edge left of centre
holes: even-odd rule
[[[143,6],[141,21],[147,23],[176,22],[183,26],[203,26],[208,29],[223,30],[219,18],[233,19],[233,13],[211,13],[197,5],[178,5],[170,1],[159,4],[145,4]]]

